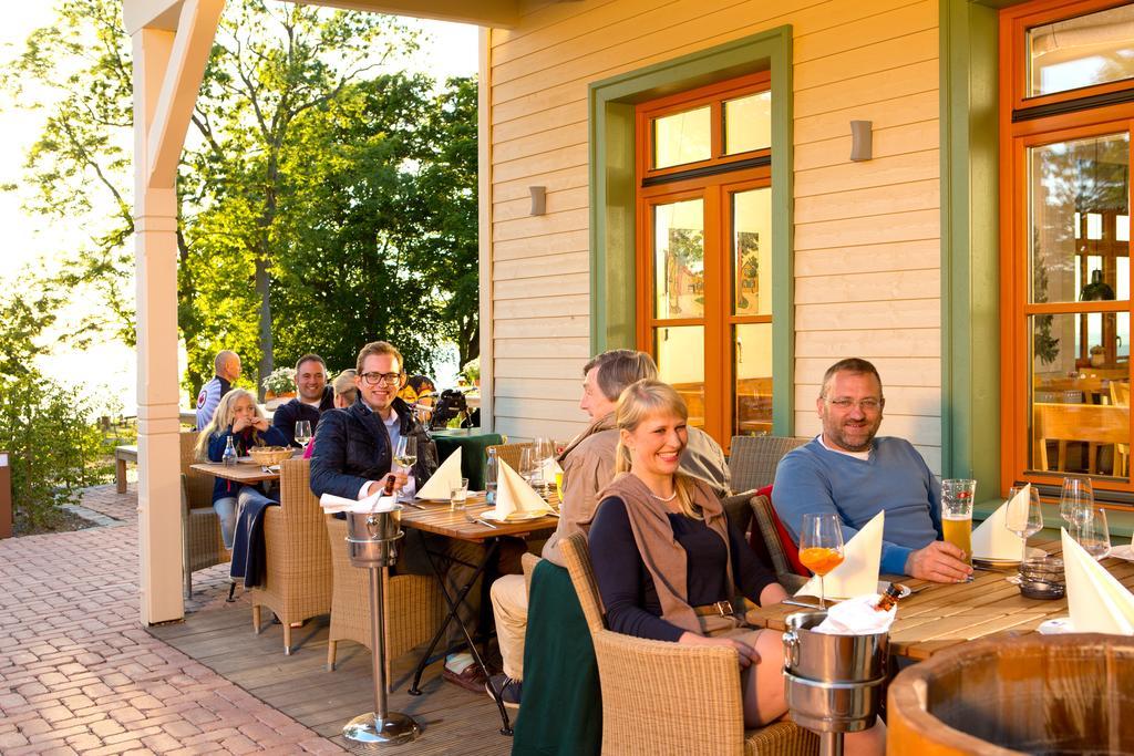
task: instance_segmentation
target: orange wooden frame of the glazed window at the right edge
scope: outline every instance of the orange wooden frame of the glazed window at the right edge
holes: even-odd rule
[[[1027,50],[1025,32],[1034,26],[1073,18],[1128,1],[1082,0],[1058,2],[1042,0],[1000,11],[1000,493],[1006,494],[1016,481],[1059,485],[1063,473],[1029,470],[1031,444],[1030,354],[1027,329],[1031,315],[1076,313],[1129,313],[1134,322],[1134,299],[1114,301],[1029,303],[1031,263],[1029,247],[1027,151],[1069,139],[1126,131],[1131,135],[1128,160],[1134,165],[1134,102],[1120,102],[1080,110],[1049,110],[1047,105],[1073,103],[1097,94],[1134,92],[1134,79],[1110,82],[1050,95],[1025,97]],[[1031,112],[1029,112],[1031,111]],[[1131,194],[1134,195],[1134,184]],[[1134,209],[1134,196],[1127,197]],[[1132,273],[1134,274],[1134,273]],[[1131,414],[1134,440],[1134,413]],[[1097,477],[1098,491],[1134,491],[1129,481]]]

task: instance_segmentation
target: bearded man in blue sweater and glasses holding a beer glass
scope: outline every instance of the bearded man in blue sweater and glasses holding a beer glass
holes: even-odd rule
[[[959,583],[973,569],[940,540],[941,484],[908,441],[874,438],[885,405],[869,362],[831,365],[815,400],[823,432],[780,460],[772,503],[796,541],[806,512],[837,512],[849,541],[885,509],[882,572]]]

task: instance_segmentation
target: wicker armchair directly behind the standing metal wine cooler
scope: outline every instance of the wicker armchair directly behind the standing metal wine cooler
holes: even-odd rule
[[[327,637],[327,671],[335,669],[339,640],[354,640],[370,648],[370,570],[350,563],[347,523],[324,516],[327,541],[335,572],[331,596],[331,630]],[[386,683],[392,688],[390,662],[425,643],[445,617],[441,589],[429,575],[396,575],[382,570],[386,597]],[[371,648],[373,651],[373,648]]]

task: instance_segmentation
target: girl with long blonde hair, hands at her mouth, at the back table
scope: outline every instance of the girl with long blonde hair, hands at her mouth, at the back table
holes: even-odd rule
[[[229,439],[238,457],[248,453],[252,447],[286,447],[287,439],[279,428],[272,427],[260,411],[256,398],[245,389],[232,389],[226,393],[212,421],[197,439],[197,459],[222,461]],[[251,498],[266,498],[260,484],[237,483],[215,478],[213,483],[213,510],[220,519],[220,533],[225,547],[232,550],[236,533],[236,517]]]

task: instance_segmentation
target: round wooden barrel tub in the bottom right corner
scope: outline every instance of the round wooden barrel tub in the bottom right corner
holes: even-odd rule
[[[962,644],[898,674],[887,711],[891,756],[1134,754],[1134,638]]]

